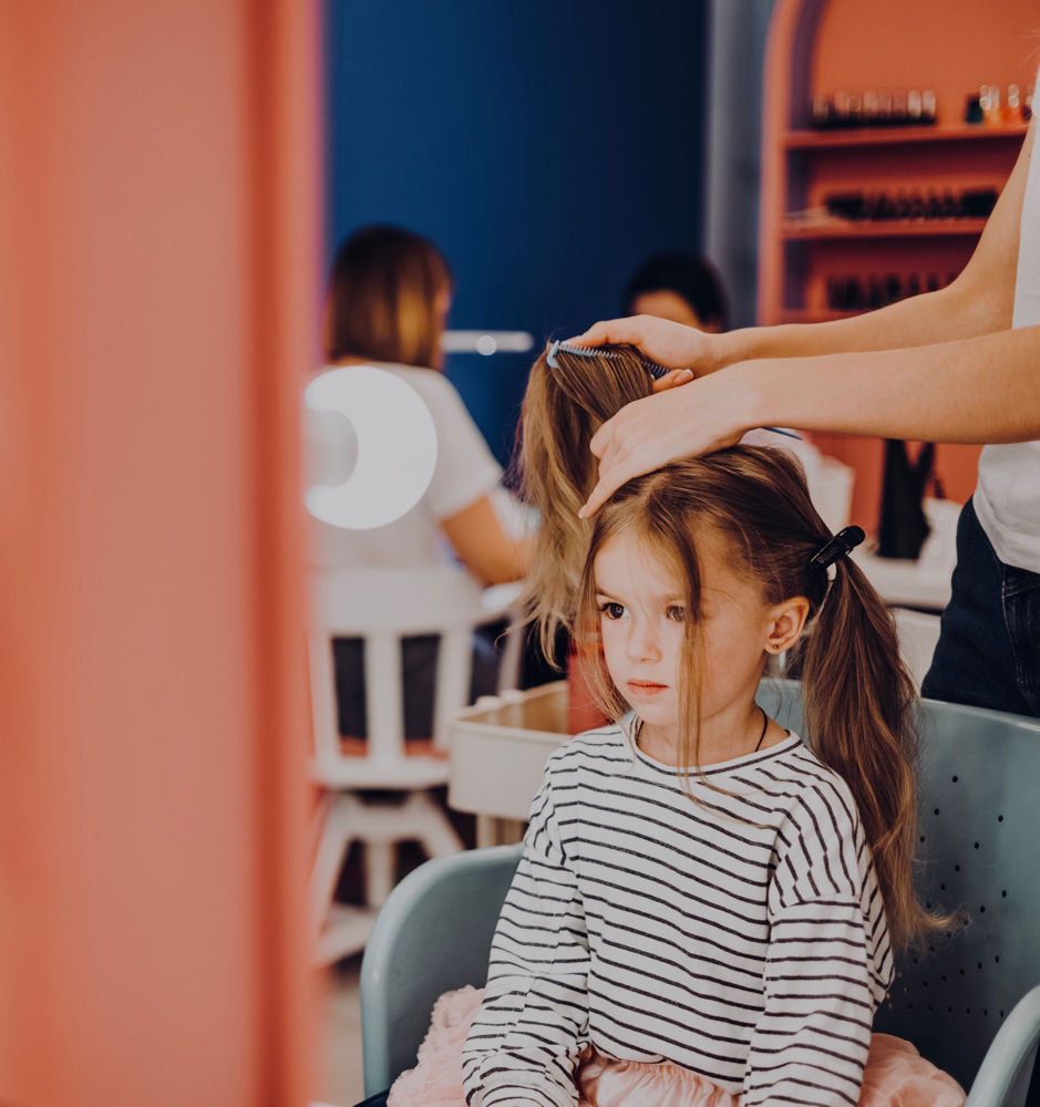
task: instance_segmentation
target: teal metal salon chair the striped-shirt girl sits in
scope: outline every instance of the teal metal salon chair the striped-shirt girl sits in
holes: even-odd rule
[[[764,681],[759,702],[804,733],[797,684]],[[969,923],[903,958],[874,1028],[969,1088],[968,1107],[1022,1107],[1040,1039],[1040,724],[926,701],[920,728],[918,887]],[[361,968],[367,1096],[415,1064],[442,992],[484,985],[521,851],[428,861],[387,901]]]

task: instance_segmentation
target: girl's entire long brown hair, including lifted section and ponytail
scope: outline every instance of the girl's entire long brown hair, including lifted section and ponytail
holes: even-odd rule
[[[673,462],[622,486],[595,519],[583,523],[576,518],[577,508],[595,483],[590,433],[622,405],[611,411],[610,404],[646,395],[650,386],[646,370],[640,369],[643,380],[637,381],[628,364],[619,369],[612,360],[565,362],[557,355],[557,363],[556,370],[544,356],[536,363],[524,410],[523,477],[545,530],[535,557],[534,588],[528,589],[532,617],[543,630],[560,622],[572,630],[599,706],[620,717],[629,705],[610,682],[597,646],[596,554],[617,535],[632,534],[672,568],[687,590],[689,612],[679,689],[679,763],[688,772],[698,767],[699,746],[699,544],[721,539],[728,563],[760,588],[766,604],[804,596],[810,632],[800,664],[807,739],[855,799],[893,940],[915,944],[926,932],[948,925],[949,920],[925,911],[913,886],[916,695],[899,660],[895,623],[854,562],[840,559],[833,580],[827,570],[810,565],[832,536],[812,504],[797,461],[785,451],[734,446]],[[566,380],[572,374],[578,383]],[[589,392],[596,399],[586,404],[583,397]],[[556,442],[544,442],[546,435]],[[562,487],[569,492],[560,500],[542,498]],[[559,518],[562,514],[568,518]],[[556,558],[564,573],[554,587],[550,562]]]

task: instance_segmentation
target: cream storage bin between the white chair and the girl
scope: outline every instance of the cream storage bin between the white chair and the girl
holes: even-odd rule
[[[526,819],[549,754],[568,737],[566,681],[482,696],[451,724],[447,803],[459,811]]]

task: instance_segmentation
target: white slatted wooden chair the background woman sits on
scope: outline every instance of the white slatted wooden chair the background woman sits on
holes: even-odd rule
[[[319,963],[364,948],[375,914],[393,887],[394,845],[418,840],[431,857],[462,842],[430,788],[447,782],[449,725],[468,702],[476,627],[509,614],[512,593],[482,602],[480,584],[459,570],[332,569],[316,573],[310,634],[315,778],[327,795],[320,811],[311,881]],[[495,600],[500,600],[496,603]],[[511,632],[511,640],[517,631]],[[433,735],[429,753],[409,755],[404,742],[401,640],[437,634]],[[368,738],[363,756],[344,754],[339,734],[333,638],[364,641]],[[518,649],[506,648],[500,689],[515,684]],[[405,792],[403,803],[372,803],[360,790]],[[333,904],[351,842],[365,848],[367,907]]]

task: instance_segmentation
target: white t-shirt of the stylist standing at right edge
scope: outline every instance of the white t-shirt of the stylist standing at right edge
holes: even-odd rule
[[[1040,152],[1038,152],[1040,153]],[[1015,278],[1012,327],[1040,325],[1040,169],[1029,164]],[[1040,389],[1040,366],[1037,366]],[[986,446],[975,510],[1005,565],[1040,572],[1040,442]]]

